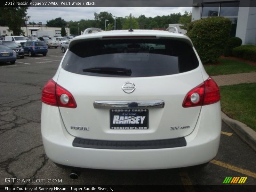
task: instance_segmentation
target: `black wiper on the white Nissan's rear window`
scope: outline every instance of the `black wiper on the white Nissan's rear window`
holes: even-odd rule
[[[131,76],[132,70],[126,68],[115,68],[115,67],[94,67],[83,69],[84,72],[101,73],[109,75],[125,75]]]

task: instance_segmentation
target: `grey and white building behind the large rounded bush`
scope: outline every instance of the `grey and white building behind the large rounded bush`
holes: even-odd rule
[[[256,44],[256,0],[193,0],[192,21],[222,16],[232,21],[231,36]]]

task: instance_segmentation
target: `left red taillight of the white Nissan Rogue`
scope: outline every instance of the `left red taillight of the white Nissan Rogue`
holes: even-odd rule
[[[76,108],[73,95],[52,79],[44,86],[41,100],[48,105]]]

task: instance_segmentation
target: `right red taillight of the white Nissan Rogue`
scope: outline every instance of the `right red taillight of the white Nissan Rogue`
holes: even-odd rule
[[[204,83],[189,91],[183,101],[183,107],[209,105],[220,100],[220,89],[215,81],[209,77]]]

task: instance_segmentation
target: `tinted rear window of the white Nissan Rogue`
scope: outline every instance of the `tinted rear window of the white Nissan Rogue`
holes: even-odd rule
[[[164,76],[197,67],[193,48],[171,39],[83,41],[68,50],[62,63],[72,73],[108,77]]]

